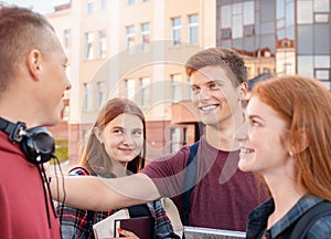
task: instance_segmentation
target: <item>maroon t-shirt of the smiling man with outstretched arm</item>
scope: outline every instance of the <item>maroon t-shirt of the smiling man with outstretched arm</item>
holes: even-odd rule
[[[161,196],[173,198],[181,210],[184,169],[189,146],[151,162],[142,173]],[[201,137],[197,149],[197,184],[191,194],[190,226],[245,231],[247,215],[267,199],[252,173],[237,168],[239,152],[222,152]]]

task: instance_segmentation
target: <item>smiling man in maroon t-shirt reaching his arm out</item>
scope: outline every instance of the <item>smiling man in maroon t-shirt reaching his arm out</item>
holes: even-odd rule
[[[211,48],[192,55],[185,69],[193,103],[206,125],[197,148],[189,225],[245,231],[248,212],[266,196],[259,197],[253,174],[237,169],[239,147],[233,135],[244,119],[242,103],[247,92],[244,60],[229,49]],[[181,212],[189,157],[190,147],[183,146],[174,154],[151,162],[134,176],[108,180],[65,178],[66,204],[105,210],[171,197]]]

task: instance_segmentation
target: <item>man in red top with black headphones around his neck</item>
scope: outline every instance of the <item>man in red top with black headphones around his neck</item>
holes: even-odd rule
[[[47,20],[0,6],[0,231],[2,238],[61,238],[42,163],[71,89],[67,58]]]

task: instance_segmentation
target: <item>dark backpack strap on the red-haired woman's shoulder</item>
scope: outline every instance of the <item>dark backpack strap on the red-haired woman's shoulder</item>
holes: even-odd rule
[[[321,217],[331,215],[331,202],[321,201],[320,204],[314,205],[308,211],[306,211],[301,218],[299,218],[292,232],[291,239],[303,239],[312,227],[312,225]]]

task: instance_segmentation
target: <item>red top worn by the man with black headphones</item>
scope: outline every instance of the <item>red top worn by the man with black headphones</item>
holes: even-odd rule
[[[49,228],[43,183],[20,145],[0,132],[0,238],[60,239],[60,222],[49,201]]]

